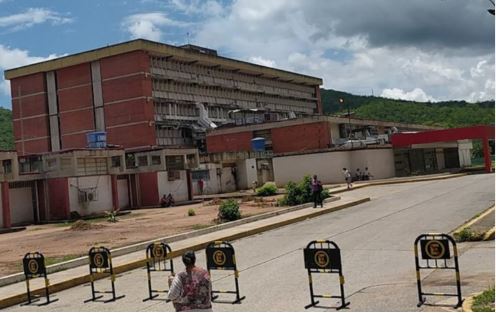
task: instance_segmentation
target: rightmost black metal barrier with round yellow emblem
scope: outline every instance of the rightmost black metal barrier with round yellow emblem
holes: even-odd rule
[[[420,242],[420,252],[424,264],[421,265],[419,261],[419,242]],[[453,257],[450,252],[450,243],[453,249]],[[424,296],[445,296],[458,298],[458,303],[455,308],[462,305],[462,290],[460,285],[460,270],[458,267],[458,249],[456,247],[456,242],[453,237],[446,234],[430,233],[422,234],[415,239],[414,244],[415,249],[415,269],[417,273],[417,289],[419,303],[417,307],[420,307],[425,303],[426,298]],[[453,264],[448,264],[448,260],[453,259]],[[430,262],[429,262],[430,261]],[[455,293],[433,293],[433,292],[423,292],[422,291],[422,281],[420,279],[421,269],[446,269],[455,270],[456,275],[456,294]]]

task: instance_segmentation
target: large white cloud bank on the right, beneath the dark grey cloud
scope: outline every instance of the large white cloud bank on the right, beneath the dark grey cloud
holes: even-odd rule
[[[366,30],[346,36],[335,31],[343,23],[339,5],[351,6],[348,1],[237,0],[222,14],[203,19],[193,40],[229,57],[321,77],[325,88],[356,94],[400,90],[397,95],[418,101],[494,98],[494,51],[371,45]],[[401,26],[401,20],[397,23],[388,27]]]

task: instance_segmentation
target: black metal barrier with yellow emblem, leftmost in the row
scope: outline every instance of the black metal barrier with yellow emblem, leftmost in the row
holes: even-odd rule
[[[28,305],[40,300],[41,296],[39,298],[33,299],[31,290],[29,289],[30,280],[37,277],[43,277],[45,279],[45,297],[47,299],[46,302],[38,305],[42,306],[58,301],[58,299],[50,300],[50,292],[48,290],[50,282],[47,278],[45,257],[43,256],[43,254],[39,252],[26,253],[26,255],[24,255],[24,258],[22,259],[22,266],[24,268],[24,276],[26,277],[26,293],[28,296],[28,302],[23,305]]]

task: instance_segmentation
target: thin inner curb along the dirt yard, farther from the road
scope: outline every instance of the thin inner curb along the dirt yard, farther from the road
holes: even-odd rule
[[[337,201],[340,199],[341,199],[341,197],[332,196],[330,198],[325,199],[324,203],[329,203],[329,202]],[[155,238],[153,240],[147,240],[147,241],[135,243],[135,244],[128,245],[128,246],[124,246],[124,247],[120,247],[120,248],[116,248],[116,249],[111,249],[111,252],[112,252],[113,257],[118,257],[118,256],[122,256],[125,254],[133,253],[136,251],[144,250],[144,249],[146,249],[146,247],[149,244],[156,242],[156,241],[165,241],[167,243],[171,243],[171,242],[175,242],[175,241],[179,241],[179,240],[189,239],[192,237],[212,233],[214,231],[224,230],[227,228],[232,228],[235,226],[239,226],[239,225],[243,225],[243,224],[247,224],[247,223],[251,223],[251,222],[256,222],[256,221],[259,221],[262,219],[274,217],[274,216],[281,215],[284,213],[289,213],[289,212],[305,209],[305,208],[308,208],[311,206],[312,206],[311,203],[304,203],[304,204],[280,209],[277,211],[272,211],[272,212],[267,212],[267,213],[258,214],[258,215],[254,215],[254,216],[245,217],[243,219],[233,221],[233,222],[227,222],[227,223],[223,223],[223,224],[219,224],[219,225],[210,226],[210,227],[207,227],[204,229],[194,230],[194,231],[181,233],[181,234],[177,234],[177,235],[172,235],[172,236],[167,236],[167,237]],[[46,269],[47,269],[47,274],[52,274],[52,273],[60,272],[63,270],[71,269],[71,268],[86,265],[86,264],[88,264],[88,257],[82,256],[82,257],[78,257],[78,258],[75,258],[72,260],[68,260],[65,262],[60,262],[57,264],[47,266]],[[16,273],[16,274],[11,274],[8,276],[4,276],[4,277],[0,278],[0,287],[7,286],[10,284],[15,284],[15,283],[18,283],[18,282],[21,282],[24,280],[25,280],[24,273],[22,273],[22,272]]]

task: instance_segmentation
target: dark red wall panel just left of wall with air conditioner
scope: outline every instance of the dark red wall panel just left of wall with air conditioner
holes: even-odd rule
[[[50,220],[68,219],[70,216],[69,182],[64,178],[47,179],[48,218]]]

